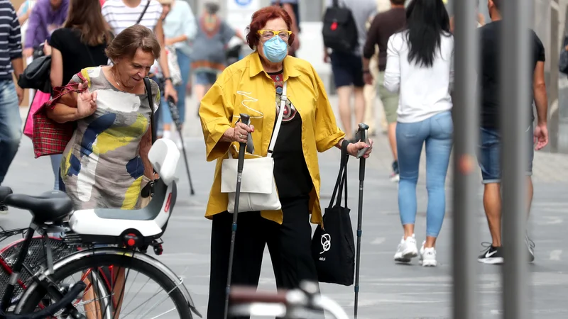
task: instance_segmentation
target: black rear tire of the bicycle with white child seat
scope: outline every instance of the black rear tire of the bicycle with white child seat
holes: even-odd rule
[[[175,308],[178,310],[180,319],[193,318],[191,310],[187,306],[185,296],[175,282],[161,272],[158,267],[155,267],[155,265],[125,254],[87,254],[80,259],[76,259],[58,268],[54,274],[50,275],[50,279],[55,282],[59,282],[62,279],[65,279],[69,274],[81,272],[83,269],[99,269],[108,265],[128,267],[129,269],[136,270],[136,272],[145,274],[148,278],[153,279],[156,284],[161,286],[164,291],[171,291],[170,298],[175,304]],[[22,305],[21,310],[17,311],[17,313],[32,313],[35,309],[35,305],[38,305],[44,296],[45,290],[37,284],[28,287],[20,301],[20,305]]]

